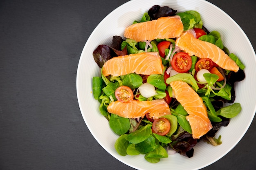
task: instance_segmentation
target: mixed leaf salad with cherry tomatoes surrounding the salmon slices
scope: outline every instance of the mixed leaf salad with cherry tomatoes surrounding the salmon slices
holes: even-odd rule
[[[222,143],[221,136],[215,137],[221,126],[228,126],[229,120],[240,113],[239,103],[235,103],[235,82],[245,78],[245,66],[234,53],[224,46],[218,31],[208,31],[197,11],[177,13],[170,7],[155,5],[144,13],[140,21],[131,24],[149,22],[166,16],[180,16],[183,31],[193,31],[195,38],[218,46],[239,67],[238,71],[221,68],[211,58],[189,55],[176,45],[177,38],[135,41],[114,36],[111,45],[101,44],[94,50],[95,62],[101,68],[101,76],[92,78],[94,98],[100,102],[99,111],[109,121],[110,128],[120,137],[115,148],[120,155],[144,154],[145,159],[157,163],[176,152],[192,157],[193,147],[198,142],[207,142],[213,146]],[[157,52],[161,57],[162,74],[104,75],[104,64],[117,57]],[[182,102],[176,99],[170,83],[186,82],[202,99],[207,108],[207,117],[211,129],[200,138],[194,138],[190,115]],[[176,92],[177,93],[177,92]],[[169,114],[154,117],[150,112],[138,117],[120,116],[110,112],[110,104],[119,102],[120,106],[129,106],[132,102],[154,103],[164,101]],[[191,99],[193,100],[193,99]],[[144,103],[145,103],[144,102]],[[157,103],[157,104],[156,104]],[[229,106],[225,106],[229,103]],[[150,107],[141,105],[141,107]],[[160,105],[159,105],[160,106]],[[127,107],[127,108],[129,108]],[[129,110],[129,109],[126,109]]]

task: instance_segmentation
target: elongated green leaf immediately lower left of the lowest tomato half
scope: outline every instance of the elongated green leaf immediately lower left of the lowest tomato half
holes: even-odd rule
[[[129,135],[127,135],[126,140],[128,140],[132,144],[139,144],[140,142],[147,139],[149,135],[152,133],[151,127],[151,124],[147,124],[146,126],[139,128],[135,132],[132,132]]]

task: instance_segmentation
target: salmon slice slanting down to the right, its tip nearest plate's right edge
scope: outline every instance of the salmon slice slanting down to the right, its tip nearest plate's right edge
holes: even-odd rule
[[[239,66],[222,49],[215,44],[205,42],[194,37],[191,30],[183,33],[177,38],[176,45],[189,55],[200,58],[210,58],[221,68],[237,72]]]

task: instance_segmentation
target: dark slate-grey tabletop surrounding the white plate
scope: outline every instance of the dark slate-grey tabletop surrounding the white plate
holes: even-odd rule
[[[0,0],[0,170],[133,169],[92,137],[76,97],[85,42],[127,1]],[[255,49],[255,1],[208,1],[241,26]],[[204,170],[255,169],[255,129],[254,119],[238,145]]]

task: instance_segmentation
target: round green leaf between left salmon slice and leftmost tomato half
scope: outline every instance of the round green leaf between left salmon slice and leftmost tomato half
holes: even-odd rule
[[[130,73],[127,75],[124,75],[123,77],[123,85],[128,86],[131,89],[138,88],[143,84],[143,79],[140,75],[137,75],[136,73]]]

